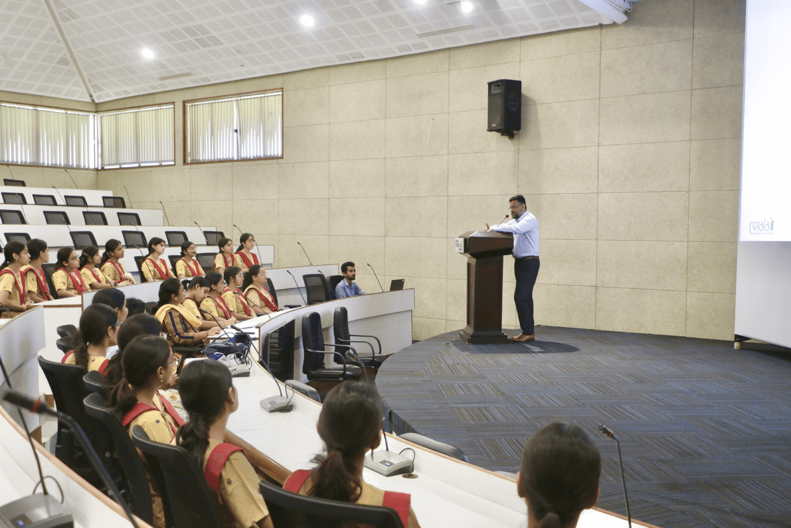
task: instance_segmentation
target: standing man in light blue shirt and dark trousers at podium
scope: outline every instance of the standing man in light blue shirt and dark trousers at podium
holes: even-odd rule
[[[509,200],[511,218],[507,224],[490,227],[487,231],[513,233],[513,274],[517,277],[517,289],[513,302],[517,305],[519,325],[522,333],[511,339],[518,343],[536,339],[533,320],[533,286],[539,275],[539,221],[528,212],[524,196],[512,196]]]

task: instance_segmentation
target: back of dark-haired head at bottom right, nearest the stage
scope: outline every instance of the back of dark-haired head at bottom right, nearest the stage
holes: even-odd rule
[[[517,493],[528,503],[528,527],[575,528],[599,500],[601,456],[577,425],[549,424],[524,446]]]

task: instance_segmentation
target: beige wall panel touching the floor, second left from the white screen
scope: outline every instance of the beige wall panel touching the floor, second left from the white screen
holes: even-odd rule
[[[596,329],[682,336],[687,292],[596,288]]]

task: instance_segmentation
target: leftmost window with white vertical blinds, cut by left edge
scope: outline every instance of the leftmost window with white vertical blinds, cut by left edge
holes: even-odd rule
[[[3,163],[97,168],[96,116],[57,108],[0,103]]]

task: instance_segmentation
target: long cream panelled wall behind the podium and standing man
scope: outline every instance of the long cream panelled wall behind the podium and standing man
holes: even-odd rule
[[[537,323],[730,339],[743,52],[744,0],[649,0],[624,25],[112,101],[98,109],[176,101],[177,161],[98,186],[161,199],[173,224],[237,223],[277,267],[307,264],[301,241],[315,264],[354,260],[365,291],[366,263],[406,278],[415,339],[464,326],[453,239],[520,192],[541,230]],[[498,78],[523,82],[513,141],[486,132]],[[280,87],[282,160],[182,165],[181,101]]]

